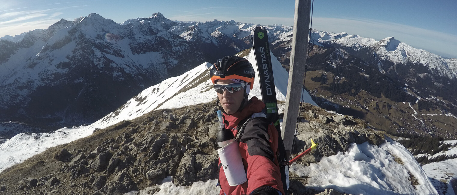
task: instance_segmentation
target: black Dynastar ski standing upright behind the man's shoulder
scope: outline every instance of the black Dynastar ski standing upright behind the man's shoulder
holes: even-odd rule
[[[262,101],[266,105],[266,118],[270,119],[278,131],[278,150],[279,156],[278,161],[281,166],[282,184],[284,186],[284,192],[287,195],[287,180],[286,175],[286,149],[281,138],[281,127],[279,125],[279,113],[276,100],[276,88],[273,79],[273,67],[271,66],[270,46],[268,42],[268,35],[266,28],[263,26],[257,26],[252,36],[252,44],[254,48],[255,62],[257,63],[257,72],[259,73],[260,91],[262,95]]]

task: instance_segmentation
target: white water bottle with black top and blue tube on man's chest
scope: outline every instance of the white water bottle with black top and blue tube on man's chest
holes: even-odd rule
[[[222,112],[218,110],[217,113],[221,122],[221,128],[218,131],[218,145],[222,147],[218,149],[219,159],[221,159],[228,185],[237,186],[248,180],[241,154],[239,154],[239,143],[235,141],[232,131],[224,128]]]

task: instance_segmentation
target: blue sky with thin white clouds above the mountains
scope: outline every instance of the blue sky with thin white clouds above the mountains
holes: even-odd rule
[[[93,12],[118,23],[160,12],[178,21],[293,26],[294,5],[294,0],[2,0],[0,37]],[[316,0],[313,28],[377,40],[394,36],[416,48],[457,57],[457,0]]]

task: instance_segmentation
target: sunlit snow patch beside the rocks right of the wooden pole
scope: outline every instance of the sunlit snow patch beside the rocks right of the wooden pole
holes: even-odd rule
[[[403,164],[395,160],[399,158]],[[291,171],[311,177],[308,188],[333,188],[340,192],[367,195],[434,195],[436,189],[414,157],[401,144],[388,139],[379,147],[352,144],[345,153],[324,157],[309,166],[292,165]],[[413,186],[414,176],[418,185]]]

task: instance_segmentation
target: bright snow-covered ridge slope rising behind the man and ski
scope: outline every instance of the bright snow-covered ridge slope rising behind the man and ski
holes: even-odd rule
[[[273,54],[271,53],[273,56]],[[254,66],[255,57],[251,52],[246,56]],[[217,98],[216,92],[213,91],[213,84],[209,80],[210,63],[202,65],[188,71],[178,77],[170,77],[163,82],[145,89],[139,93],[121,108],[106,115],[100,120],[84,127],[62,128],[54,133],[20,133],[0,145],[0,170],[5,169],[13,164],[22,162],[32,155],[43,152],[45,149],[64,144],[76,139],[86,137],[92,133],[95,128],[106,128],[110,125],[121,122],[122,120],[131,120],[137,118],[152,110],[164,108],[181,108],[188,105],[207,103]],[[272,57],[272,66],[275,82],[276,96],[278,100],[285,100],[287,90],[288,73]],[[258,73],[255,69],[255,77]],[[260,95],[260,84],[254,82],[254,89],[250,92],[250,97]],[[316,105],[308,92],[304,91],[305,102]],[[23,146],[17,147],[18,145]]]

